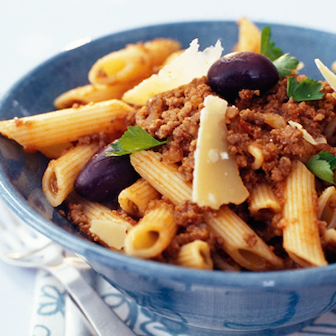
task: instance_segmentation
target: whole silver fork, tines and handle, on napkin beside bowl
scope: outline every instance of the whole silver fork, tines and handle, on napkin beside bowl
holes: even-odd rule
[[[98,336],[135,335],[84,280],[79,269],[89,266],[82,259],[39,234],[10,211],[8,217],[9,221],[0,220],[0,259],[50,272],[64,285]]]

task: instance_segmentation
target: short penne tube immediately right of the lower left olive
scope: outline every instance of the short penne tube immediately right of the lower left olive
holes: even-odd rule
[[[120,207],[131,216],[142,217],[149,203],[160,194],[143,178],[125,188],[118,195]]]

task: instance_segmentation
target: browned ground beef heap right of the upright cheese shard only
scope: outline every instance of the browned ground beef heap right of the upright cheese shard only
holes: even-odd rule
[[[301,81],[304,76],[299,76]],[[300,158],[307,160],[321,150],[321,146],[310,146],[302,136],[302,132],[286,125],[289,120],[300,123],[313,137],[322,136],[326,125],[335,117],[336,99],[328,84],[323,85],[325,96],[316,101],[296,102],[287,97],[287,78],[260,96],[255,90],[242,90],[235,105],[239,114],[227,124],[229,151],[235,155],[243,181],[251,190],[256,182],[255,173],[250,168],[254,158],[248,151],[250,144],[257,144],[262,149],[264,162],[262,171],[268,181],[279,182],[291,171],[291,160]],[[267,118],[274,118],[279,124],[272,128]],[[282,121],[282,122],[281,122]],[[274,122],[276,124],[276,122]],[[323,145],[325,150],[333,151],[330,145]],[[244,160],[245,157],[245,160]],[[247,170],[247,171],[246,171]]]

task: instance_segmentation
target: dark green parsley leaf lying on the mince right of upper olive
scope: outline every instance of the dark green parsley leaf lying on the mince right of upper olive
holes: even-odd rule
[[[322,99],[324,93],[320,92],[322,84],[311,78],[305,78],[299,83],[296,77],[287,78],[287,95],[295,101]]]

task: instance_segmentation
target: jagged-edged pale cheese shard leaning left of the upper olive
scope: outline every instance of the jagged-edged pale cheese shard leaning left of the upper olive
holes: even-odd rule
[[[198,39],[194,39],[189,48],[164,66],[158,74],[144,79],[134,88],[126,91],[122,100],[144,105],[147,99],[158,93],[175,89],[191,82],[194,78],[205,76],[211,65],[221,56],[223,48],[218,40],[215,46],[199,51]]]

